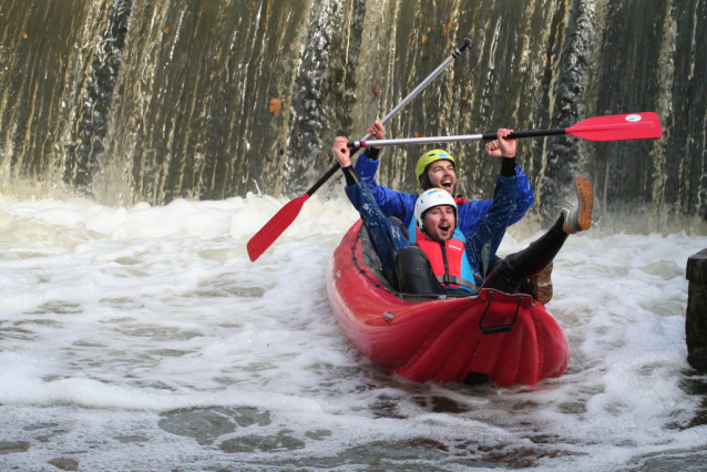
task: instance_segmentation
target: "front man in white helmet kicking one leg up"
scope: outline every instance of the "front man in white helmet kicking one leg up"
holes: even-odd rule
[[[501,260],[486,276],[482,273],[482,247],[500,242],[515,207],[518,176],[515,174],[515,141],[505,140],[512,130],[499,130],[498,145],[501,151],[501,173],[489,212],[475,233],[467,235],[464,242],[457,239],[458,208],[451,195],[440,188],[426,191],[416,203],[414,217],[424,244],[414,245],[404,230],[391,223],[382,213],[365,182],[351,167],[350,151],[346,137],[337,137],[331,151],[346,176],[346,193],[358,209],[370,236],[371,244],[388,273],[396,273],[398,285],[403,293],[464,295],[475,293],[483,285],[505,293],[515,293],[522,281],[545,269],[563,246],[570,234],[586,230],[592,224],[594,191],[584,177],[576,177],[574,197],[568,199],[560,218],[540,239],[530,247]],[[443,195],[441,195],[443,194]],[[444,195],[447,195],[444,197]],[[427,202],[426,202],[427,201]],[[453,242],[454,244],[450,244]],[[429,243],[429,244],[428,244]],[[434,250],[434,247],[441,250]],[[460,246],[461,245],[461,246]],[[496,246],[491,246],[495,254]],[[464,250],[464,258],[454,257],[452,249]],[[434,268],[430,258],[443,259]],[[411,264],[407,264],[412,261]],[[443,264],[442,264],[443,263]],[[450,267],[467,264],[471,266],[473,280],[464,280],[450,273],[463,274],[463,269]],[[441,273],[438,273],[438,269]],[[465,284],[465,283],[469,284]]]

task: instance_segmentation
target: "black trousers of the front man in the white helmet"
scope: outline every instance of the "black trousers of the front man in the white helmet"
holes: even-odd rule
[[[498,258],[489,268],[489,276],[483,288],[495,288],[506,294],[518,291],[521,283],[543,271],[555,258],[567,234],[562,229],[564,216],[525,249],[509,255],[505,259]],[[427,255],[417,246],[408,246],[396,256],[396,266],[400,279],[400,291],[404,294],[445,295],[450,291],[464,291],[444,288],[437,280],[432,265]]]

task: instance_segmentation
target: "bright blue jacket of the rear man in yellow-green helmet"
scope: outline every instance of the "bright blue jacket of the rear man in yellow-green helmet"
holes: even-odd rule
[[[378,185],[376,182],[376,172],[378,171],[379,163],[380,161],[360,155],[356,161],[356,173],[361,177],[361,181],[368,185],[383,215],[395,216],[400,219],[406,227],[411,227],[414,219],[414,203],[418,199],[418,195],[396,192]],[[509,226],[518,223],[525,216],[535,203],[533,188],[520,165],[516,166],[515,173],[518,175],[518,196]],[[491,209],[491,205],[492,201],[470,201],[458,205],[459,229],[464,236],[470,237],[479,230],[481,222]]]

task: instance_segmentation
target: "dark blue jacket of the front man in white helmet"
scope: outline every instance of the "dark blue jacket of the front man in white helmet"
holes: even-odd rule
[[[477,232],[465,238],[467,257],[474,275],[474,283],[479,287],[483,285],[482,249],[488,243],[491,243],[490,259],[495,256],[495,252],[515,209],[518,181],[518,176],[496,176],[493,199],[489,201],[488,212],[478,223]],[[412,243],[404,237],[400,228],[390,223],[390,219],[376,203],[376,198],[366,182],[362,181],[346,187],[346,195],[361,215],[381,264],[391,274],[396,274],[396,255],[400,249],[412,245]]]

